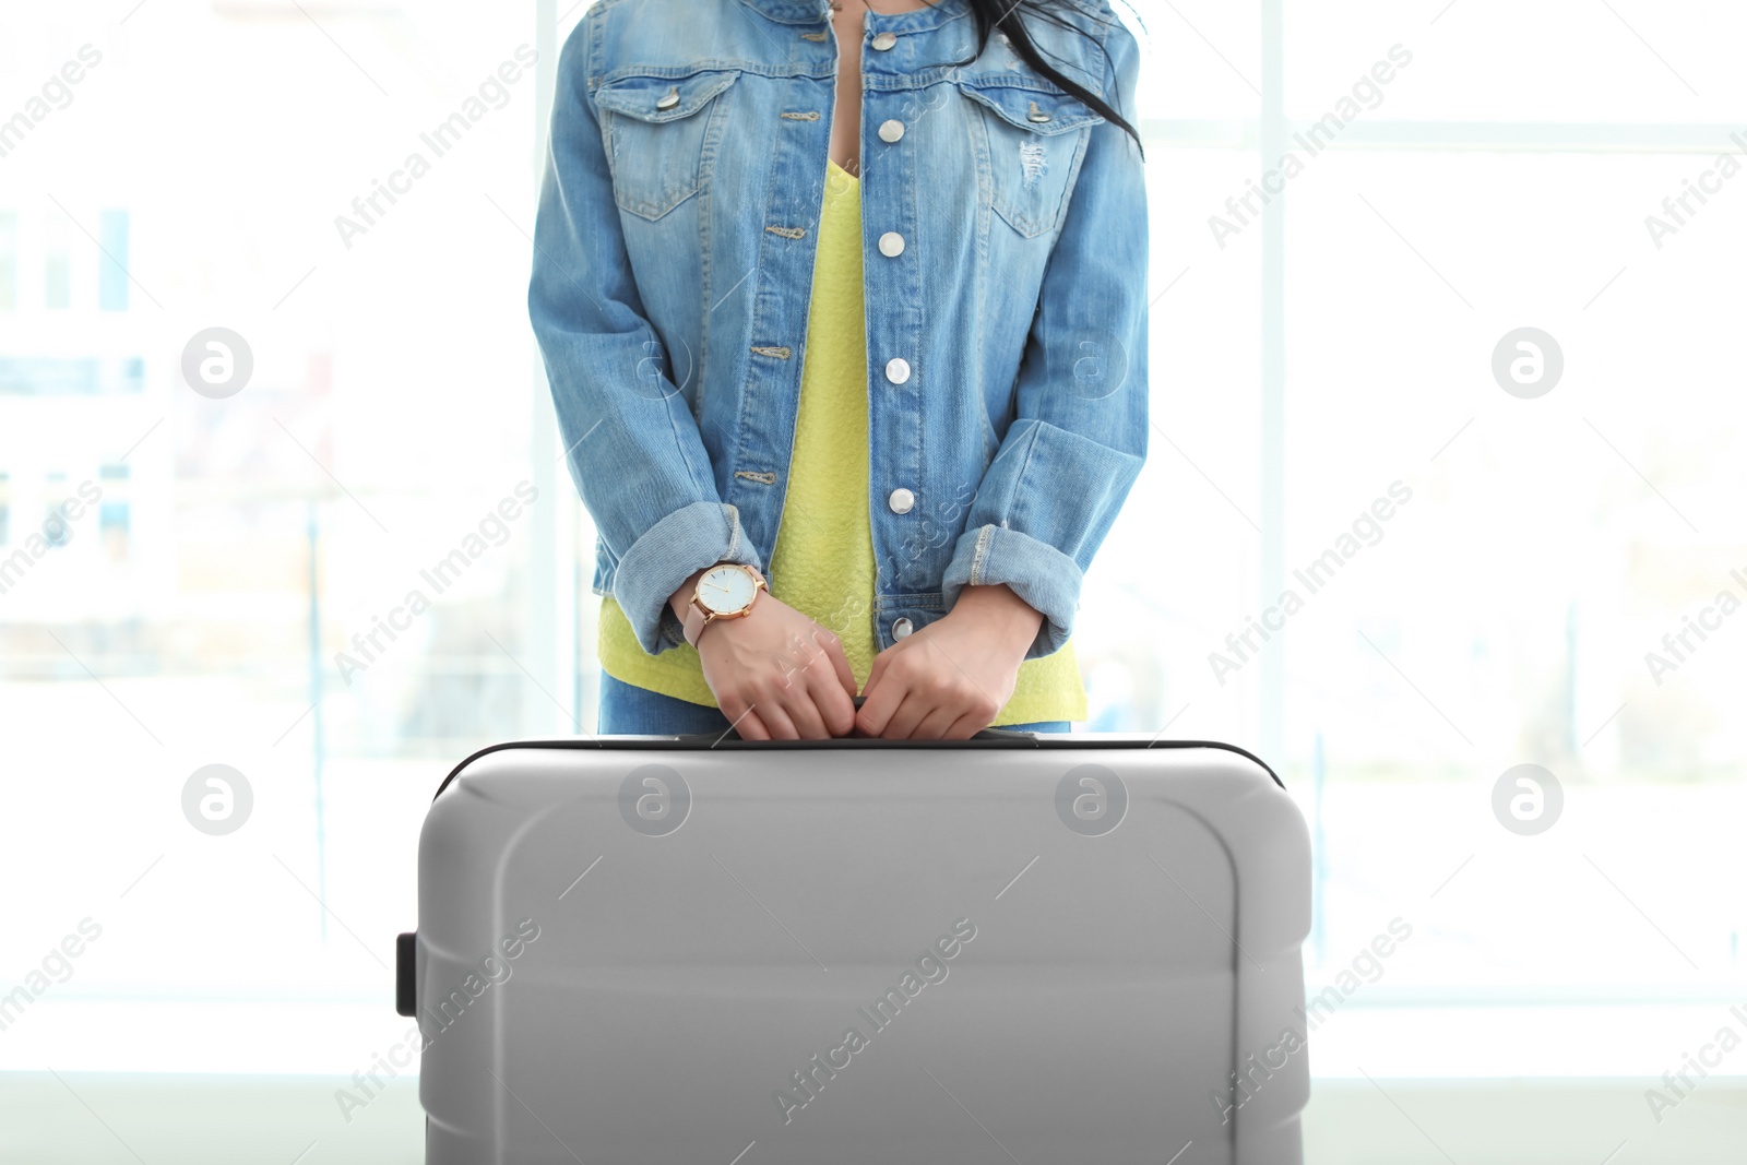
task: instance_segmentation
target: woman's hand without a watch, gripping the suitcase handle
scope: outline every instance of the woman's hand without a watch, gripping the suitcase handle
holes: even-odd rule
[[[943,617],[874,657],[856,728],[889,741],[964,741],[1006,707],[1043,615],[1010,587],[964,587]]]

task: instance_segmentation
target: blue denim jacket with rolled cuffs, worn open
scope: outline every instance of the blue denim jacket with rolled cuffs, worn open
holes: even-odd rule
[[[1134,121],[1139,47],[1097,5],[1108,23],[1062,9],[1094,40],[1027,30]],[[599,529],[592,589],[659,653],[683,643],[667,596],[692,571],[769,575],[847,51],[875,643],[1006,583],[1045,617],[1027,658],[1046,655],[1146,456],[1139,150],[999,35],[970,61],[964,0],[868,14],[861,44],[828,17],[826,0],[599,0],[564,44],[529,309]]]

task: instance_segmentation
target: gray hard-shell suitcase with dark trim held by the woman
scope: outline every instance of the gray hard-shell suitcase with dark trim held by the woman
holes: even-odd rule
[[[501,744],[400,940],[426,1162],[1295,1165],[1309,882],[1223,744]]]

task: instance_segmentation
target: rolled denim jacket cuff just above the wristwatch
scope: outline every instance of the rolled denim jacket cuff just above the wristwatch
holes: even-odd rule
[[[756,547],[741,534],[739,510],[722,501],[674,510],[631,543],[613,571],[613,599],[645,651],[660,655],[685,643],[685,624],[667,599],[694,571],[716,562],[763,569]]]

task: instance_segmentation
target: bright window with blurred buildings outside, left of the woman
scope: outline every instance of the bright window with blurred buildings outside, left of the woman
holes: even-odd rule
[[[5,16],[9,77],[87,42],[101,61],[5,159],[0,727],[17,772],[80,776],[7,786],[16,821],[61,824],[0,847],[0,879],[37,887],[0,954],[21,976],[80,920],[101,936],[0,1013],[0,1067],[367,1065],[405,1031],[381,940],[416,922],[442,772],[575,730],[580,507],[535,440],[526,320],[536,86],[498,72],[531,14]],[[189,44],[197,65],[166,66]],[[487,79],[437,157],[419,134]],[[414,152],[430,171],[391,203],[377,182]],[[253,793],[225,838],[182,810],[215,763]],[[259,1037],[285,1018],[288,1044]]]

